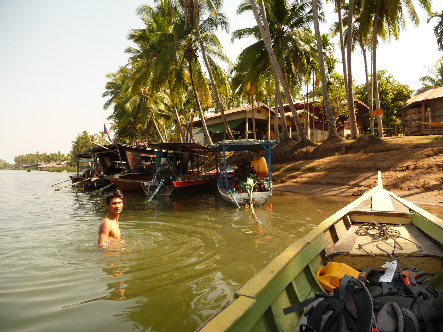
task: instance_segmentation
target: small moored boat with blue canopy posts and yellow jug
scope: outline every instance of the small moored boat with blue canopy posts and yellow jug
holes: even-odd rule
[[[274,141],[259,139],[234,139],[212,146],[218,156],[217,188],[221,198],[237,206],[261,206],[271,197],[271,148],[274,144]],[[235,160],[235,169],[229,169],[226,163],[226,152],[231,151],[244,151],[245,155]],[[267,158],[261,157],[262,151],[267,153]],[[250,153],[257,154],[257,158],[251,159]]]

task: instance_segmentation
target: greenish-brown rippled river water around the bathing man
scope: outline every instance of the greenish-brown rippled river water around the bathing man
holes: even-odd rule
[[[1,331],[194,331],[355,199],[276,192],[256,208],[260,227],[216,189],[148,203],[142,191],[124,193],[122,241],[103,249],[107,193],[50,186],[67,178],[0,170]]]

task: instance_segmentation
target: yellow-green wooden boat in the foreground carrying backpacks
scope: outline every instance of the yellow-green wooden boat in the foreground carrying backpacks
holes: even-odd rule
[[[371,222],[386,224],[402,237],[397,238],[398,243],[393,239],[376,243],[358,235],[359,226]],[[294,331],[302,312],[285,316],[283,309],[316,292],[325,292],[315,272],[327,262],[346,263],[360,271],[372,267],[384,272],[381,266],[392,256],[404,266],[426,271],[426,282],[441,290],[442,243],[443,220],[383,189],[378,172],[376,187],[292,243],[237,290],[234,300],[198,331]]]

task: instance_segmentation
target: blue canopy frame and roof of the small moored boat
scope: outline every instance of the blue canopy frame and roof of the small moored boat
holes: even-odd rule
[[[266,160],[268,164],[268,188],[272,189],[271,182],[271,149],[272,145],[275,145],[277,142],[275,141],[265,141],[264,139],[231,139],[225,141],[219,141],[217,144],[212,146],[212,149],[217,152],[218,155],[218,170],[221,174],[221,156],[223,153],[223,165],[225,167],[225,190],[226,193],[229,192],[229,184],[228,184],[228,172],[226,171],[226,151],[251,151],[251,152],[260,152],[260,149],[263,148],[264,151],[268,153],[268,158]],[[223,181],[221,181],[220,177],[220,185],[222,187]]]

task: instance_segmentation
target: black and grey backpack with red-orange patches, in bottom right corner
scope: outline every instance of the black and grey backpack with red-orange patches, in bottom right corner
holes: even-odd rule
[[[378,325],[380,314],[383,319],[387,318],[386,315],[391,318],[396,315],[400,322],[400,312],[394,303],[400,307],[404,321],[403,330],[401,322],[397,324],[398,332],[443,332],[443,291],[436,291],[424,282],[426,272],[410,266],[395,273],[392,282],[379,282],[379,278],[380,273],[372,268],[361,271],[358,277],[377,300],[374,312],[377,313]],[[381,332],[392,332],[388,326],[380,326]]]

